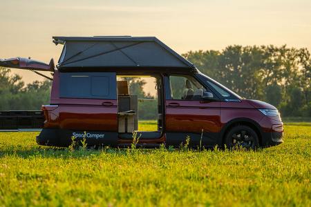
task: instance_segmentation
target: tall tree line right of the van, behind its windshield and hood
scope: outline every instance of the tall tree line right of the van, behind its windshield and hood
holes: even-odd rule
[[[242,97],[267,101],[285,117],[311,117],[311,57],[306,48],[228,46],[183,56]]]

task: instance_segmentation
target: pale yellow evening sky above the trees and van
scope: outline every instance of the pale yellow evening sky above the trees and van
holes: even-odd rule
[[[0,58],[58,60],[53,36],[156,36],[182,54],[239,44],[311,50],[310,0],[0,0]],[[26,83],[43,80],[13,70]]]

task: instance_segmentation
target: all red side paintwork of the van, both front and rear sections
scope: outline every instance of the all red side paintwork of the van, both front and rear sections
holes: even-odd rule
[[[103,102],[109,102],[112,106],[103,106]],[[42,108],[46,116],[45,128],[117,132],[117,100],[60,98],[57,71],[53,77],[50,104],[55,106]],[[279,116],[266,117],[257,110],[274,108],[262,101],[164,100],[164,104],[164,129],[169,132],[220,132],[229,121],[241,118],[256,122],[263,132],[283,132]],[[158,139],[140,139],[140,142],[158,144],[165,140],[163,133]],[[131,143],[131,140],[119,139],[119,143]]]

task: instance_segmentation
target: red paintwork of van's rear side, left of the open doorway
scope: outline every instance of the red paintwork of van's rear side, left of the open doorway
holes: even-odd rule
[[[117,100],[68,99],[59,97],[59,72],[55,72],[51,90],[50,104],[58,107],[48,110],[45,128],[63,128],[74,130],[117,131]],[[103,106],[112,103],[112,106]],[[46,114],[46,112],[45,112]]]

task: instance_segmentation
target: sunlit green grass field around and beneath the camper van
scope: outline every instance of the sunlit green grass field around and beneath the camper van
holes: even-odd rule
[[[0,133],[0,206],[311,206],[310,123],[286,124],[283,144],[256,152],[71,152],[36,135]]]

